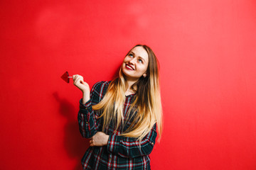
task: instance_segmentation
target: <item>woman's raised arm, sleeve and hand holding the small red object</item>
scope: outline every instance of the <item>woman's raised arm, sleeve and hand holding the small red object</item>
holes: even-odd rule
[[[82,137],[90,138],[97,133],[99,128],[99,120],[97,113],[92,110],[93,105],[99,102],[99,91],[96,83],[92,86],[90,91],[89,85],[83,81],[80,75],[73,76],[74,85],[82,91],[82,98],[80,99],[80,110],[78,112],[78,124]]]

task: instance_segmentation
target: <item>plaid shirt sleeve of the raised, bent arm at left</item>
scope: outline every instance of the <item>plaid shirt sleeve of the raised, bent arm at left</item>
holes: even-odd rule
[[[96,111],[93,111],[92,105],[100,102],[102,81],[92,86],[90,91],[90,100],[85,104],[82,103],[82,98],[79,101],[80,109],[78,111],[78,124],[82,137],[90,138],[96,134],[100,123],[97,117],[99,116]]]

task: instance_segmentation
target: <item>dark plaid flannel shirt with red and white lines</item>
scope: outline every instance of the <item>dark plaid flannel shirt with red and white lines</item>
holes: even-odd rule
[[[97,118],[100,113],[92,110],[92,106],[99,103],[107,92],[110,81],[97,82],[91,89],[90,100],[82,104],[80,99],[80,111],[78,112],[78,123],[82,137],[90,138],[96,132],[102,131],[102,118]],[[135,94],[126,96],[124,103],[124,119]],[[132,121],[132,120],[131,120]],[[139,141],[134,137],[120,136],[132,123],[127,121],[124,127],[119,127],[114,132],[114,125],[110,123],[107,135],[110,135],[106,146],[89,147],[82,157],[83,169],[150,169],[150,158],[156,140],[156,124],[143,138],[140,147]]]

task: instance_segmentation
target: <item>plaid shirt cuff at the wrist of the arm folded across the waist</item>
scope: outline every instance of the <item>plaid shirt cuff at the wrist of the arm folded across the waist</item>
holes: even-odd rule
[[[112,134],[107,141],[107,151],[112,154],[117,154],[119,150],[120,140],[122,136],[118,136],[116,134]]]

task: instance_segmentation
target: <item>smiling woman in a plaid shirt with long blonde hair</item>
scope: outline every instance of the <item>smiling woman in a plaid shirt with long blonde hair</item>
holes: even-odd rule
[[[83,169],[150,169],[149,154],[161,135],[162,113],[158,62],[146,45],[124,57],[119,77],[97,82],[91,89],[73,75],[82,91],[78,123],[90,147]]]

